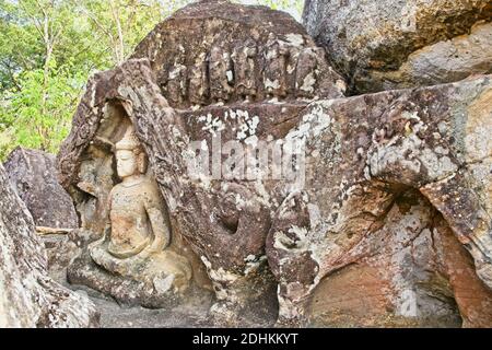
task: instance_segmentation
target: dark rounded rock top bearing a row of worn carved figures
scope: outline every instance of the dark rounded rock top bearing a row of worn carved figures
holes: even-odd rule
[[[199,1],[159,24],[132,58],[148,58],[172,107],[341,97],[344,82],[289,14]]]

